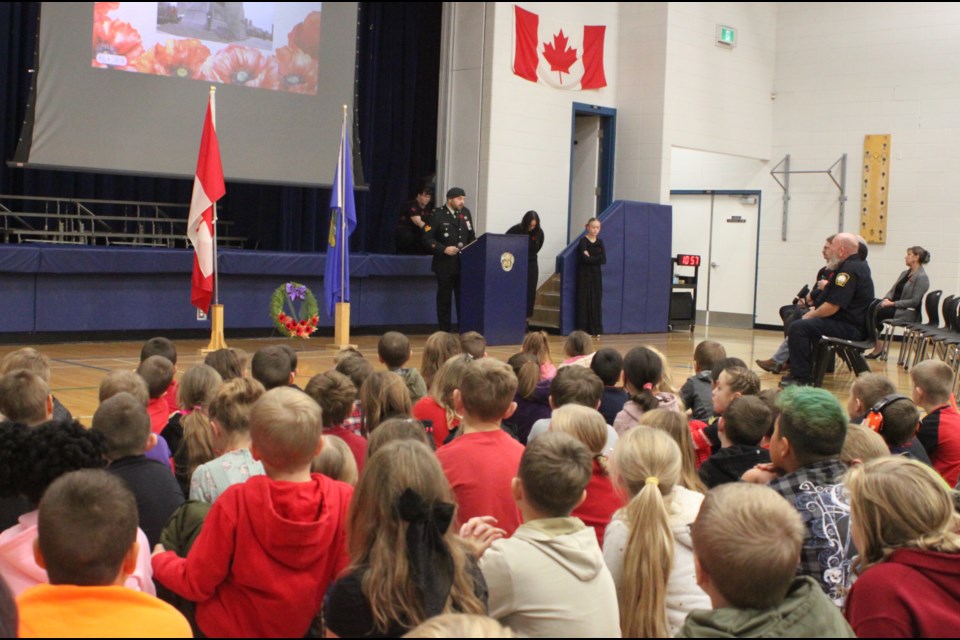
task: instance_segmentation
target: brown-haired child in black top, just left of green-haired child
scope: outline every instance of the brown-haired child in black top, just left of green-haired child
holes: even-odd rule
[[[742,396],[727,406],[719,423],[723,448],[700,466],[708,489],[737,482],[747,470],[770,462],[770,452],[760,446],[769,423],[770,409],[756,396]]]

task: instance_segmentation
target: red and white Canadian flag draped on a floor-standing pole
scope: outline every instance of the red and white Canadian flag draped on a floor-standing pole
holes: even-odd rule
[[[187,218],[187,237],[195,252],[190,302],[204,313],[209,312],[213,299],[213,225],[216,223],[213,203],[226,193],[215,123],[216,102],[211,91],[207,117],[203,121],[203,135],[200,137],[200,157],[197,159],[197,175],[193,179],[190,215]]]

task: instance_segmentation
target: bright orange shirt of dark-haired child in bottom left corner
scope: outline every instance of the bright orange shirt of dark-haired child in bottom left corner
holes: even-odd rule
[[[41,584],[17,598],[21,638],[192,638],[166,602],[126,587]]]

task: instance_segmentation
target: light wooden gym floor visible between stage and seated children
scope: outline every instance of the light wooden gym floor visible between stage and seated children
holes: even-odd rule
[[[410,342],[413,348],[411,366],[419,367],[423,354],[423,344],[426,335],[411,335]],[[670,360],[670,374],[674,385],[679,388],[684,380],[693,374],[693,349],[700,340],[716,340],[724,345],[727,355],[742,358],[751,368],[760,374],[763,388],[776,387],[780,376],[761,371],[754,360],[769,358],[776,350],[783,335],[777,331],[759,331],[747,329],[711,329],[698,327],[691,334],[689,332],[643,334],[643,335],[611,335],[604,336],[597,348],[613,347],[621,353],[639,345],[650,345],[660,349]],[[356,343],[363,354],[376,368],[383,368],[377,359],[377,336],[359,336]],[[178,340],[178,377],[191,365],[203,361],[200,349],[207,346],[207,340]],[[318,337],[301,341],[299,339],[264,338],[264,339],[237,339],[232,340],[227,331],[227,342],[231,347],[246,350],[250,356],[264,346],[287,342],[299,354],[298,383],[303,386],[311,376],[333,367],[335,351],[329,347],[332,339]],[[51,387],[57,398],[84,424],[90,423],[90,418],[97,408],[97,388],[100,379],[111,369],[134,369],[139,362],[140,346],[142,342],[76,342],[62,344],[34,345],[51,360]],[[0,357],[23,345],[0,345]],[[870,366],[878,373],[885,373],[897,385],[897,388],[909,394],[909,375],[896,365],[898,344],[891,347],[891,359],[888,362],[870,361]],[[551,336],[550,349],[554,361],[560,363],[563,359],[563,337]],[[506,360],[519,351],[519,345],[490,347],[487,352],[490,356]],[[829,389],[840,398],[846,406],[847,392],[853,374],[844,367],[838,366],[838,373],[827,374],[824,388]]]

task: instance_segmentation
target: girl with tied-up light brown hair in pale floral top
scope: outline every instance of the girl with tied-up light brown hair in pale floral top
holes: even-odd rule
[[[197,466],[190,476],[191,500],[213,503],[229,487],[263,475],[263,465],[250,452],[250,410],[264,393],[263,385],[253,378],[234,378],[210,401],[207,413],[214,451],[222,453]]]

